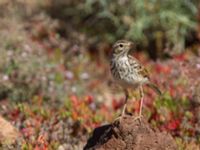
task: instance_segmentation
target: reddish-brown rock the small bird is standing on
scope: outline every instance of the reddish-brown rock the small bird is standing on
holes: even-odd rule
[[[88,140],[84,150],[176,150],[172,136],[150,127],[145,119],[134,120],[126,115],[121,123],[98,127]]]

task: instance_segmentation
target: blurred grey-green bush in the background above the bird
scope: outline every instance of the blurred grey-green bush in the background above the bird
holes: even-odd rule
[[[65,8],[65,15],[81,24],[81,29],[96,40],[113,42],[128,38],[145,46],[155,41],[157,48],[167,44],[180,51],[189,31],[195,29],[197,3],[196,0],[86,0]]]

